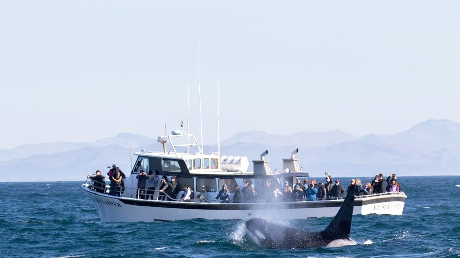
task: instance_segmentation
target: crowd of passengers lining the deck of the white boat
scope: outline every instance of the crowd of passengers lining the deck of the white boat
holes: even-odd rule
[[[140,164],[138,164],[140,165]],[[155,194],[156,186],[160,180],[158,171],[149,171],[145,173],[143,167],[137,166],[136,172],[139,174],[136,176],[138,179],[137,198],[139,199],[153,199]],[[124,192],[123,179],[126,177],[125,174],[115,164],[107,172],[110,180],[110,191],[109,194],[120,196]],[[284,182],[282,190],[280,190],[279,184],[272,185],[270,180],[265,181],[265,184],[256,189],[251,182],[246,182],[243,189],[240,190],[239,186],[235,186],[233,189],[233,202],[273,202],[273,201],[304,201],[304,200],[327,200],[327,199],[340,199],[345,196],[348,189],[355,185],[355,196],[360,197],[362,195],[369,194],[383,194],[383,193],[397,193],[401,192],[400,185],[397,181],[396,174],[390,174],[386,180],[384,180],[383,174],[375,176],[372,182],[367,182],[365,186],[362,185],[361,180],[352,179],[347,191],[342,187],[340,181],[333,180],[332,176],[325,172],[325,183],[319,182],[315,179],[304,179],[301,182],[300,178],[296,179],[296,183],[291,187],[289,182]],[[104,193],[105,192],[105,176],[101,174],[101,171],[97,170],[96,175],[88,175],[93,183],[93,190]],[[160,187],[158,189],[159,200],[178,200],[187,201],[194,199],[193,191],[189,185],[183,185],[182,187],[177,186],[176,177],[172,176],[171,180],[168,181],[166,176],[162,176],[160,181]],[[182,191],[180,197],[178,194]],[[200,202],[208,202],[208,192],[206,187],[201,187],[201,192],[197,195],[197,199]],[[178,198],[177,198],[178,197]],[[222,189],[215,196],[214,201],[220,200],[221,202],[230,202],[230,191],[227,189],[227,185],[223,185]]]

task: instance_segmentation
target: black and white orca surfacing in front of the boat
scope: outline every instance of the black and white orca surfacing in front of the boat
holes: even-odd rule
[[[248,235],[261,247],[311,248],[334,246],[334,241],[350,241],[354,206],[354,187],[350,187],[342,206],[326,229],[319,232],[284,226],[265,219],[253,218],[246,222]]]

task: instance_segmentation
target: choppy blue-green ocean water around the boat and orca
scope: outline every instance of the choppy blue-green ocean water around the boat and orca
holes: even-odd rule
[[[237,220],[102,223],[82,182],[0,183],[0,256],[460,257],[460,176],[399,182],[408,195],[402,216],[356,215],[354,245],[295,250],[257,247]],[[322,230],[330,221],[281,223]]]

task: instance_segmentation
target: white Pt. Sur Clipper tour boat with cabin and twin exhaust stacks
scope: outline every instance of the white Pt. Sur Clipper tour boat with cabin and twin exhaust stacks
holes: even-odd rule
[[[94,183],[89,178],[81,188],[91,198],[101,221],[153,222],[188,219],[240,219],[280,218],[283,220],[307,219],[316,217],[334,217],[343,199],[323,200],[257,200],[234,202],[234,188],[243,189],[246,182],[256,190],[262,190],[267,181],[273,189],[283,191],[285,182],[292,187],[297,178],[309,177],[302,172],[295,158],[298,149],[288,159],[283,159],[283,170],[272,171],[265,160],[268,151],[261,154],[259,160],[252,161],[253,171],[247,171],[249,162],[246,157],[220,156],[219,152],[204,154],[203,145],[198,144],[193,134],[181,130],[172,131],[167,136],[159,136],[163,151],[136,152],[137,161],[131,173],[123,180],[124,185],[110,189],[109,182]],[[166,150],[169,143],[171,149]],[[183,152],[180,152],[180,151]],[[192,152],[191,150],[194,150]],[[196,151],[195,151],[196,150]],[[219,148],[220,151],[220,148]],[[156,191],[145,195],[138,193],[140,167],[148,172],[156,172],[159,180]],[[148,171],[148,172],[147,172]],[[162,200],[160,193],[163,176],[171,181],[175,177],[177,189],[188,184],[194,198],[181,201],[171,198]],[[150,176],[149,176],[150,177]],[[230,192],[229,202],[214,200],[219,190],[226,185]],[[197,198],[201,187],[205,186],[205,198]],[[118,192],[118,193],[117,193]],[[182,191],[177,194],[179,198]],[[260,194],[260,193],[259,193]],[[389,214],[401,215],[407,196],[404,193],[384,193],[356,196],[353,214]]]

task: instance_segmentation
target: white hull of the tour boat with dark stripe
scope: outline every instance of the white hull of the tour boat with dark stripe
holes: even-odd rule
[[[333,217],[343,200],[274,202],[274,203],[198,203],[142,200],[100,194],[82,185],[82,189],[94,202],[103,222],[153,222],[189,219],[249,220],[308,219]],[[404,194],[356,198],[353,214],[401,215],[404,209]]]

